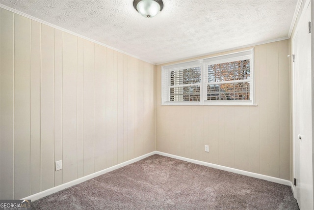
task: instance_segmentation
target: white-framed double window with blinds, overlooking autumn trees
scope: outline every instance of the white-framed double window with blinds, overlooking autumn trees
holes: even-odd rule
[[[163,105],[253,105],[253,49],[162,67]]]

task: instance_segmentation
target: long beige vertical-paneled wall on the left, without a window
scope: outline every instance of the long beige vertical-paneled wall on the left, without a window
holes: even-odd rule
[[[0,199],[155,151],[154,81],[152,64],[0,8]]]

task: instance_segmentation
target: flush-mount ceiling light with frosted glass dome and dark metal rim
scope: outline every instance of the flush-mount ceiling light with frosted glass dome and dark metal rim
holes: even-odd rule
[[[163,8],[162,0],[134,0],[133,6],[145,18],[156,16]]]

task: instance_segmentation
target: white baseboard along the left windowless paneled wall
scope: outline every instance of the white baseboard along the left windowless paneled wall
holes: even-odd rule
[[[38,200],[38,199],[40,199],[40,198],[43,198],[43,197],[48,196],[48,195],[51,195],[52,193],[55,193],[55,192],[58,192],[58,191],[60,191],[60,190],[66,189],[66,188],[68,188],[68,187],[74,186],[74,185],[79,184],[79,183],[81,183],[81,182],[83,182],[83,181],[87,181],[87,180],[93,179],[93,178],[95,178],[95,177],[98,177],[98,176],[103,175],[103,174],[105,174],[105,173],[108,173],[108,172],[110,172],[110,171],[119,169],[119,168],[121,168],[121,167],[123,167],[123,166],[129,165],[129,164],[131,164],[131,163],[134,163],[134,162],[136,162],[136,161],[139,161],[139,160],[141,160],[141,159],[144,159],[144,158],[146,158],[146,157],[149,157],[149,156],[151,156],[151,155],[153,155],[153,154],[156,154],[156,151],[153,151],[153,152],[144,154],[144,155],[142,155],[142,156],[139,156],[139,157],[136,157],[136,158],[134,158],[134,159],[128,160],[128,161],[126,161],[126,162],[120,163],[120,164],[115,165],[115,166],[112,166],[112,167],[110,167],[110,168],[106,168],[106,169],[104,169],[104,170],[102,170],[102,171],[95,172],[95,173],[93,173],[93,174],[87,175],[87,176],[82,177],[82,178],[79,178],[79,179],[77,179],[77,180],[69,181],[69,182],[67,182],[67,183],[58,185],[58,186],[56,186],[56,187],[52,187],[52,188],[47,189],[47,190],[45,190],[45,191],[42,191],[42,192],[39,192],[39,193],[30,195],[30,196],[27,196],[26,198],[22,198],[21,200],[36,201],[36,200]]]

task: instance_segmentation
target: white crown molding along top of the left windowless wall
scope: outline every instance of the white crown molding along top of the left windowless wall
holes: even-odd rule
[[[143,59],[138,58],[138,57],[136,57],[136,56],[134,56],[134,55],[131,55],[130,53],[127,53],[127,52],[124,52],[124,51],[122,51],[122,50],[116,49],[116,48],[114,48],[114,47],[111,47],[111,46],[106,45],[106,44],[104,44],[104,43],[102,43],[102,42],[96,41],[96,40],[94,40],[94,39],[88,38],[88,37],[86,37],[86,36],[82,36],[82,35],[80,35],[80,34],[78,34],[78,33],[73,32],[73,31],[66,30],[66,29],[64,29],[64,28],[58,27],[58,26],[56,26],[56,25],[53,25],[53,24],[48,23],[48,22],[46,22],[46,21],[43,21],[43,20],[41,20],[41,19],[35,18],[35,17],[31,16],[31,15],[28,15],[28,14],[26,14],[26,13],[24,13],[24,12],[21,12],[21,11],[19,11],[19,10],[13,9],[13,8],[8,7],[8,6],[6,6],[6,5],[3,5],[3,4],[1,4],[1,3],[0,3],[0,8],[6,9],[6,10],[11,11],[11,12],[14,12],[14,13],[16,13],[16,14],[18,14],[18,15],[22,15],[22,16],[24,16],[24,17],[26,17],[26,18],[29,18],[29,19],[34,20],[34,21],[37,21],[37,22],[39,22],[39,23],[41,23],[41,24],[45,24],[45,25],[50,26],[50,27],[52,27],[52,28],[54,28],[54,29],[62,30],[63,32],[67,32],[67,33],[70,33],[70,34],[72,34],[72,35],[78,36],[78,37],[80,37],[80,38],[86,39],[86,40],[88,40],[88,41],[94,42],[95,44],[99,44],[99,45],[101,45],[101,46],[107,47],[107,48],[109,48],[109,49],[115,50],[115,51],[117,51],[117,52],[123,53],[123,54],[128,55],[128,56],[131,56],[131,57],[133,57],[133,58],[135,58],[135,59],[142,60],[142,61],[151,63],[151,64],[153,64],[153,65],[156,65],[156,63],[154,63],[154,62],[151,62],[151,61],[149,61],[149,60],[143,60]]]

